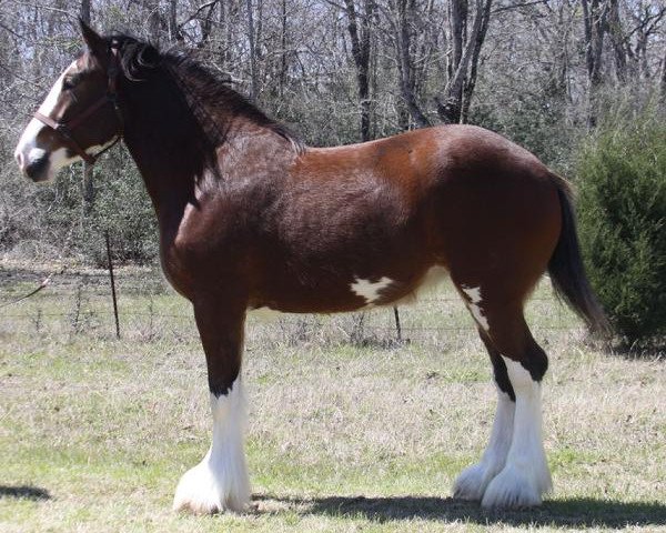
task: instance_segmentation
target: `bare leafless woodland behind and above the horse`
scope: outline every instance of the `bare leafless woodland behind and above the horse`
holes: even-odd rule
[[[81,51],[77,18],[191,49],[309,144],[468,122],[576,181],[585,139],[666,98],[659,0],[0,0],[0,253],[102,263],[157,257],[124,149],[36,187],[12,158],[30,113]],[[656,103],[655,103],[656,102]]]

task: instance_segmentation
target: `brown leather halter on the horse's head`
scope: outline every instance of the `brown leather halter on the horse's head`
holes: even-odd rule
[[[98,158],[102,153],[104,153],[107,150],[110,150],[111,148],[113,148],[118,143],[118,141],[120,141],[122,139],[124,121],[122,118],[122,113],[120,111],[120,105],[118,103],[118,91],[117,91],[117,80],[118,80],[119,71],[120,71],[120,59],[118,58],[118,48],[111,47],[110,48],[110,63],[109,63],[109,69],[107,70],[107,76],[109,78],[109,82],[107,86],[107,93],[103,97],[101,97],[99,100],[93,102],[81,114],[79,114],[78,117],[74,117],[72,120],[69,120],[67,122],[59,122],[57,120],[53,120],[51,117],[47,117],[46,114],[40,113],[39,111],[36,111],[33,114],[33,117],[37,120],[39,120],[43,124],[48,125],[56,133],[58,133],[60,137],[62,137],[69,143],[70,148],[72,148],[74,150],[74,152],[77,152],[77,154],[79,154],[81,157],[81,159],[91,167],[94,164],[94,162],[98,160]],[[108,103],[111,103],[111,105],[113,105],[113,111],[115,112],[115,117],[118,119],[119,128],[117,131],[115,140],[111,144],[109,144],[107,148],[104,148],[103,150],[100,150],[95,154],[88,153],[85,150],[83,150],[83,148],[81,148],[81,144],[79,144],[77,142],[77,140],[74,139],[74,137],[72,134],[73,130],[77,129],[79,125],[81,125],[88,118],[90,118],[92,114],[94,114],[98,110],[100,110]]]

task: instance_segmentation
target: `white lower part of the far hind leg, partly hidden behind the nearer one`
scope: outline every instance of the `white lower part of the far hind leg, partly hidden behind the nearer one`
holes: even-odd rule
[[[463,470],[455,480],[455,497],[481,501],[488,483],[504,467],[513,435],[515,405],[508,394],[497,388],[497,411],[488,446],[481,461]]]

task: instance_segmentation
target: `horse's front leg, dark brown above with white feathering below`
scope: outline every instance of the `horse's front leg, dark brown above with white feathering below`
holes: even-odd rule
[[[173,509],[196,514],[243,511],[250,502],[244,452],[245,399],[241,383],[245,306],[228,298],[194,303],[205,352],[213,439],[203,460],[188,471],[175,491]]]

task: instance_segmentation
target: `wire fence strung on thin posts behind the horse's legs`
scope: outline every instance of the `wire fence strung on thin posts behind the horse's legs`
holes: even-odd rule
[[[0,305],[39,284],[43,272],[0,266]],[[176,295],[155,268],[117,270],[118,320],[124,340],[198,340],[191,305]],[[542,283],[527,308],[535,336],[548,338],[579,324]],[[476,326],[450,285],[398,308],[336,315],[250,313],[248,338],[269,343],[351,343],[393,345],[398,342],[441,344],[452,336],[476,336]],[[111,285],[102,270],[69,271],[38,294],[0,309],[0,335],[115,335]]]

